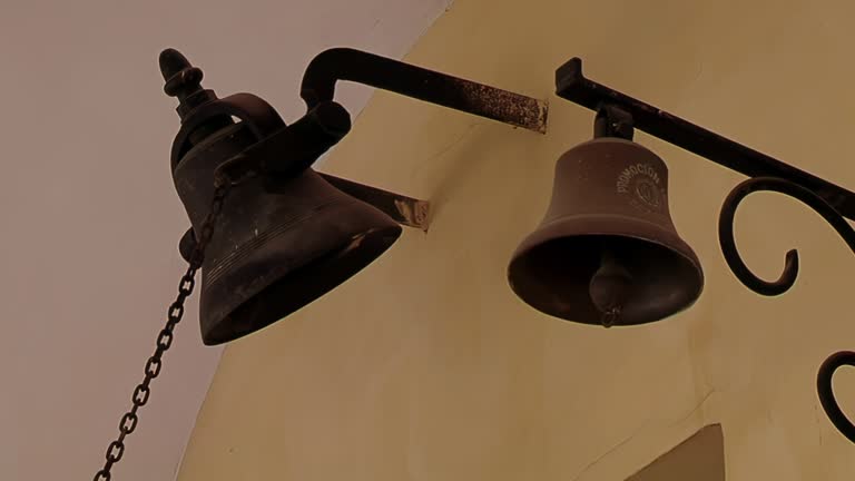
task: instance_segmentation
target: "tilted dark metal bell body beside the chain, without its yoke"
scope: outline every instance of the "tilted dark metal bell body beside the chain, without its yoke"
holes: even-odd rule
[[[257,141],[247,122],[208,136],[173,166],[198,232],[214,169]],[[271,190],[259,177],[232,188],[205,251],[202,338],[213,345],[258,331],[333,289],[386,251],[401,227],[307,168]]]

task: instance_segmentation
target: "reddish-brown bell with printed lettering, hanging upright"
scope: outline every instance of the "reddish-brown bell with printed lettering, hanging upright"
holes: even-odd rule
[[[538,311],[605,326],[661,320],[704,287],[700,262],[671,222],[665,163],[615,137],[561,156],[549,210],[508,278]]]

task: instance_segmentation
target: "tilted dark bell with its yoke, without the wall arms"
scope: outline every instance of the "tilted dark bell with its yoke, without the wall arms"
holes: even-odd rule
[[[185,86],[185,98],[200,89],[197,79]],[[401,227],[309,168],[350,131],[341,106],[318,102],[287,126],[256,96],[206,97],[179,110],[170,167],[194,232],[207,216],[216,178],[233,183],[202,266],[202,337],[219,344],[335,288],[385,252]],[[187,237],[184,244],[185,251],[191,245]]]

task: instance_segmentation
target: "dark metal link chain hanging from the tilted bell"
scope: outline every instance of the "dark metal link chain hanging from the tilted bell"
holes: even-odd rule
[[[205,247],[207,247],[208,242],[214,234],[217,217],[219,216],[223,203],[225,202],[232,185],[232,183],[220,181],[220,179],[215,184],[216,187],[214,189],[214,199],[210,204],[210,210],[208,212],[207,217],[205,217],[205,222],[202,224],[202,233],[193,248],[187,272],[181,276],[181,281],[178,284],[178,297],[171,305],[169,305],[166,326],[160,330],[160,333],[157,336],[157,349],[155,349],[155,353],[146,362],[145,377],[142,377],[142,382],[134,390],[134,395],[131,396],[134,406],[121,416],[121,421],[119,421],[119,436],[107,448],[107,461],[104,463],[104,468],[95,474],[94,481],[110,481],[110,469],[112,469],[112,465],[119,462],[122,454],[125,454],[125,438],[132,433],[137,428],[137,421],[139,420],[137,411],[148,402],[148,395],[151,392],[149,389],[151,380],[160,374],[160,366],[163,365],[161,357],[173,344],[173,331],[184,316],[184,302],[190,296],[193,288],[196,285],[196,271],[202,267],[202,262],[205,258]]]

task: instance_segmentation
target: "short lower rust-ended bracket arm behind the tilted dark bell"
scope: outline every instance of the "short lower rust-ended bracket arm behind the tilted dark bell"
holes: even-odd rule
[[[428,200],[420,200],[330,174],[322,173],[321,177],[351,197],[379,208],[401,225],[420,228],[425,232],[430,226],[431,204]]]

